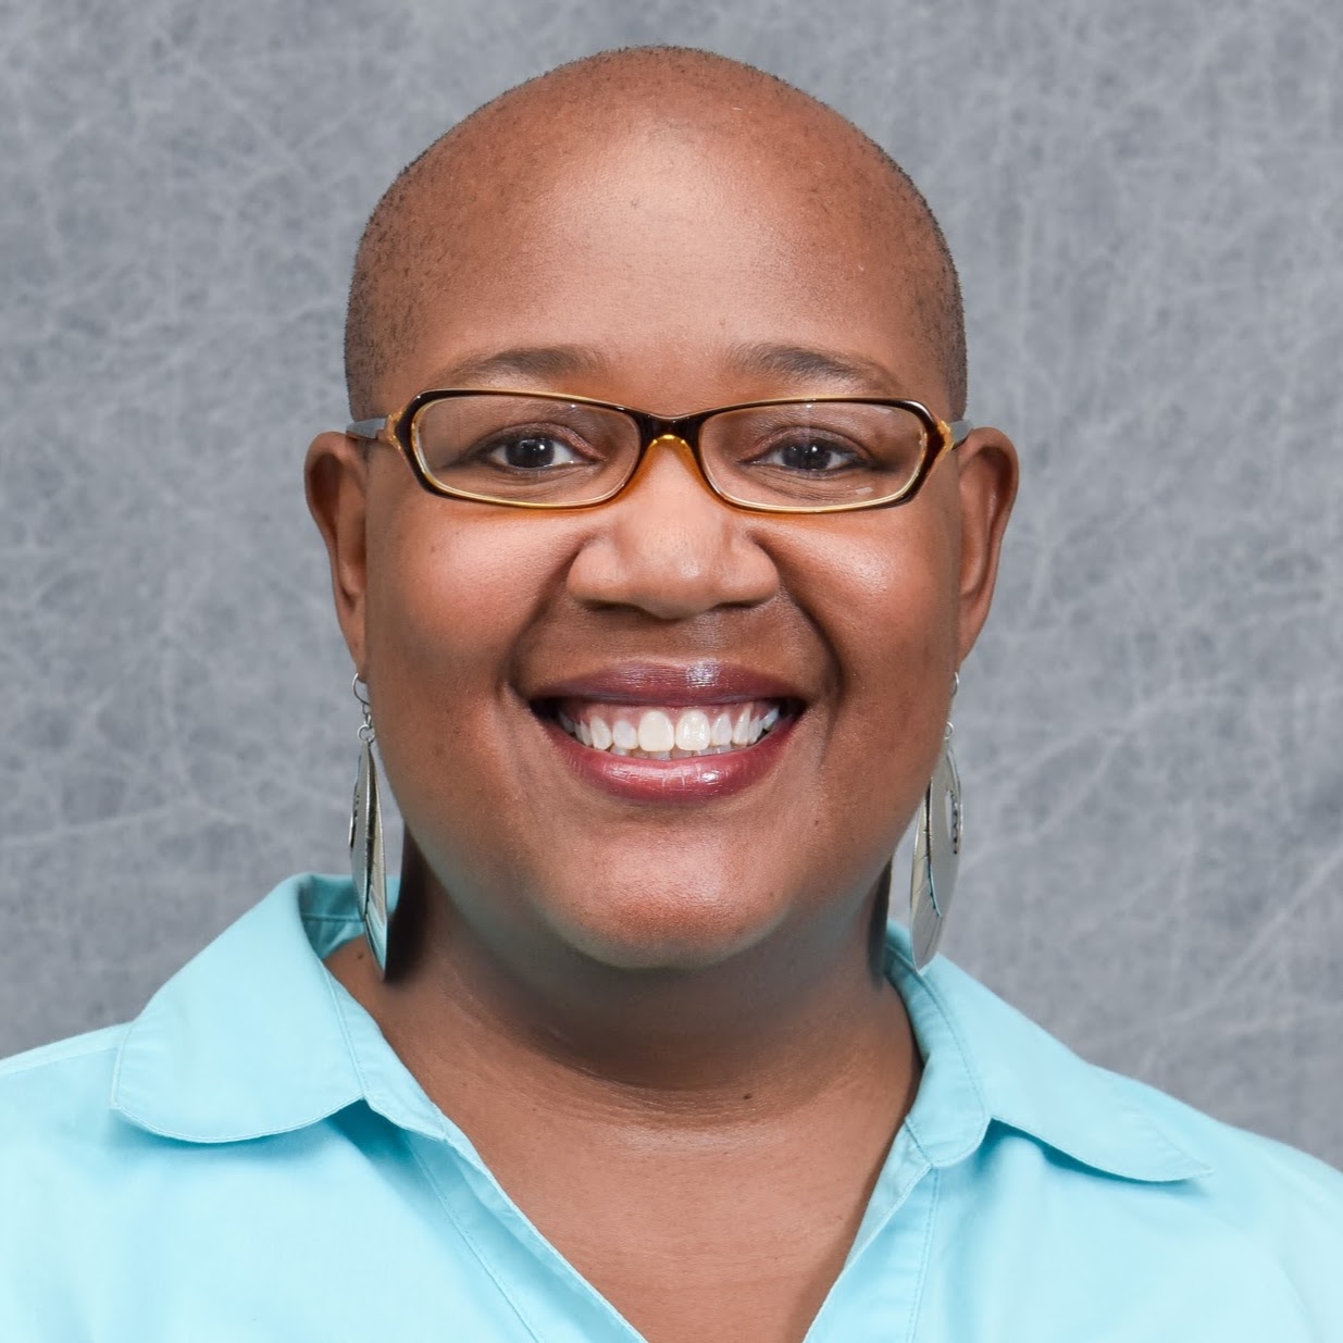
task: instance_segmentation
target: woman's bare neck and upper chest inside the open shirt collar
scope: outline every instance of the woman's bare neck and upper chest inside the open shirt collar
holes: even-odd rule
[[[530,1223],[646,1338],[800,1339],[919,1082],[876,896],[712,970],[539,974],[408,876],[389,976],[328,963]]]

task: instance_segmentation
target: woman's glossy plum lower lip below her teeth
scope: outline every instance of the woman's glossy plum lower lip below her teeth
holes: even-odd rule
[[[725,798],[757,783],[783,753],[796,719],[780,719],[755,745],[714,756],[646,760],[594,751],[557,723],[541,719],[564,763],[582,779],[629,802],[693,803]]]

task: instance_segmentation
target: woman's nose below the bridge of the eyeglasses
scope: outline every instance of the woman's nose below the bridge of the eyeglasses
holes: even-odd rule
[[[779,572],[755,535],[756,520],[705,483],[689,445],[663,434],[610,504],[569,567],[586,606],[633,607],[685,620],[719,607],[751,607],[779,590]]]

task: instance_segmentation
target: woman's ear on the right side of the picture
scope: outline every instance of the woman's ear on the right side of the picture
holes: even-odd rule
[[[959,658],[975,645],[998,577],[1003,530],[1017,497],[1017,449],[995,428],[976,428],[956,449],[960,490]]]

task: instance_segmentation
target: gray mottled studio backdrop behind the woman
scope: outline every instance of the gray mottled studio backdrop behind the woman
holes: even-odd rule
[[[1338,0],[0,0],[0,1052],[338,869],[301,497],[355,239],[505,86],[682,42],[940,214],[1023,492],[963,674],[951,954],[1343,1163]]]

